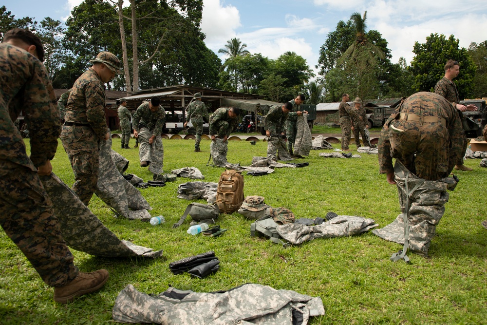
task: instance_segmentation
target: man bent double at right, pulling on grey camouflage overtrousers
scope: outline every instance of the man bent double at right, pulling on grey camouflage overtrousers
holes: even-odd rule
[[[404,229],[402,220],[407,216],[404,219],[410,226],[408,245],[419,254],[427,255],[436,225],[445,211],[446,180],[456,184],[447,177],[462,155],[462,132],[460,117],[453,106],[442,96],[426,92],[405,99],[382,128],[378,146],[380,173],[387,174],[390,184],[397,183],[402,211],[385,229],[397,232],[397,225]],[[395,169],[392,158],[396,158]],[[374,233],[399,242],[394,239],[396,235],[380,235],[381,231]]]

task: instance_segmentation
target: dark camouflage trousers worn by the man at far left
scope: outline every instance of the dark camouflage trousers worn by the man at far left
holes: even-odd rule
[[[56,217],[37,172],[0,160],[0,223],[42,280],[60,287],[73,280],[73,264]]]

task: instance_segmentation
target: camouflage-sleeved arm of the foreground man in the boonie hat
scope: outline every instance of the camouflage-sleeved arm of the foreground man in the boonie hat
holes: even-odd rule
[[[104,139],[108,131],[105,117],[105,90],[98,82],[90,82],[85,85],[85,98],[88,123],[98,138]]]

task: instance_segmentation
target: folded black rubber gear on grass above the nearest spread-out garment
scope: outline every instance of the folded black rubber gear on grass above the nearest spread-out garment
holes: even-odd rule
[[[220,268],[220,261],[215,252],[210,250],[206,253],[183,258],[169,264],[173,274],[189,273],[192,276],[203,279],[216,272]]]

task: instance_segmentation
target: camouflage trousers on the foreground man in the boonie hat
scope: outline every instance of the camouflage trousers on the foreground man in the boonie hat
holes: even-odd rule
[[[98,181],[98,138],[91,127],[67,125],[62,127],[60,138],[75,174],[73,191],[88,206]]]

